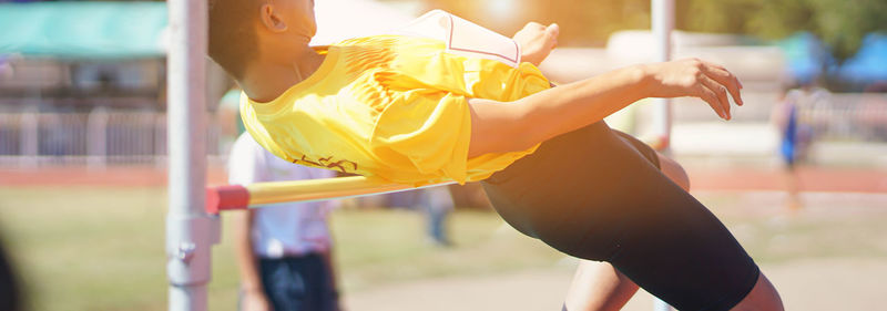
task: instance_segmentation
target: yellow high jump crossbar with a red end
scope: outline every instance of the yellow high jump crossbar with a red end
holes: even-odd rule
[[[322,179],[255,183],[246,186],[212,186],[206,187],[205,207],[207,214],[218,214],[223,210],[258,208],[281,203],[353,198],[451,184],[456,183],[449,182],[415,187],[406,184],[392,184],[390,182],[385,182],[377,178],[350,176]]]

